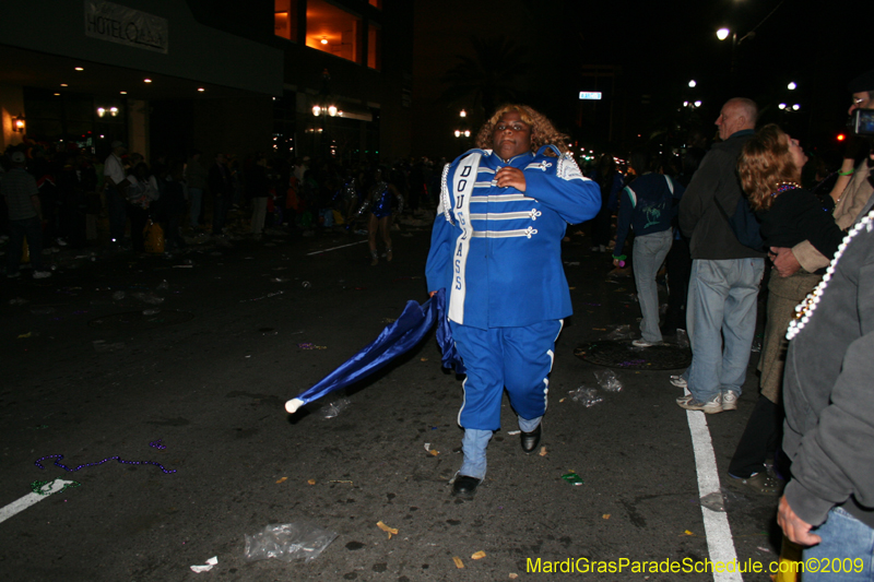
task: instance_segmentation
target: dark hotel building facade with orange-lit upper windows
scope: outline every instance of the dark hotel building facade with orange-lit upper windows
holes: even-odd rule
[[[406,155],[408,21],[400,0],[7,3],[0,146]]]

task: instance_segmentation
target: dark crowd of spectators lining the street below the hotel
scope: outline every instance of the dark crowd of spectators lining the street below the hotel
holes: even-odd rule
[[[361,234],[369,226],[367,200],[378,181],[390,185],[410,210],[433,207],[442,163],[435,169],[428,158],[388,166],[263,153],[208,157],[197,150],[187,159],[146,161],[120,141],[105,156],[73,143],[28,143],[0,156],[0,179],[17,167],[36,183],[42,240],[34,230],[23,235],[25,249],[36,242],[46,254],[68,246],[172,254],[192,239],[229,245],[229,235],[262,238],[265,227],[297,236],[323,229]],[[150,245],[155,225],[161,245]],[[0,197],[0,240],[9,238],[10,226]]]

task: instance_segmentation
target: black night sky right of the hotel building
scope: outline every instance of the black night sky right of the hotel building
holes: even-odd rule
[[[451,135],[458,109],[470,105],[447,108],[437,97],[447,87],[440,78],[457,56],[472,52],[472,35],[504,36],[528,47],[534,66],[518,82],[520,96],[581,143],[606,145],[606,103],[587,114],[581,130],[576,123],[578,92],[595,88],[582,68],[609,64],[622,68],[614,142],[621,141],[617,134],[648,135],[686,98],[704,102],[698,120],[711,135],[721,104],[739,95],[759,104],[761,121],[781,123],[808,146],[828,146],[846,121],[847,83],[874,68],[867,56],[874,54],[867,48],[874,47],[872,16],[874,3],[847,0],[417,0],[414,149],[460,153],[461,145],[445,135]],[[733,87],[731,40],[716,37],[721,26],[736,28],[739,38],[755,28],[755,36],[735,47]],[[698,82],[695,90],[687,87],[690,79]],[[795,92],[786,88],[790,81],[799,84]],[[782,100],[799,103],[802,110],[783,114],[776,108]],[[473,120],[474,129],[481,121]],[[445,149],[447,142],[456,150],[435,152],[428,145]]]

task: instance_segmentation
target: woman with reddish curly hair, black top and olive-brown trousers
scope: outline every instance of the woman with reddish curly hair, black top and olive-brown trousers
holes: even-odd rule
[[[807,156],[798,140],[771,123],[761,128],[744,144],[737,159],[737,173],[749,205],[761,219],[766,247],[793,247],[810,240],[816,249],[831,257],[843,238],[830,207],[801,187],[801,168]],[[758,369],[761,395],[749,416],[729,474],[759,492],[772,492],[777,482],[766,472],[765,459],[780,442],[782,406],[780,392],[788,342],[786,331],[795,314],[795,306],[823,278],[800,270],[790,277],[772,273],[768,281],[767,321]]]

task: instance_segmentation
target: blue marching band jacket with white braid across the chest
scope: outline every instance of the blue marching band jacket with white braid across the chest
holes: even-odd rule
[[[544,155],[548,150],[557,157]],[[497,187],[504,166],[524,173],[524,193]],[[473,328],[566,318],[572,309],[562,238],[568,223],[588,221],[600,207],[598,183],[554,145],[508,163],[492,150],[471,150],[444,168],[428,290],[445,287],[448,319]]]

